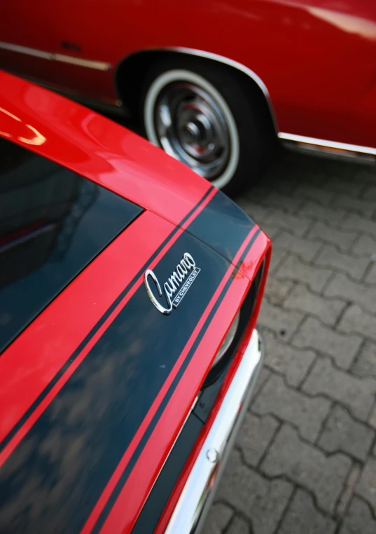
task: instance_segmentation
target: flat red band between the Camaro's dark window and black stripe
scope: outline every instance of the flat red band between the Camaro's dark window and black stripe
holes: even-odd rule
[[[126,232],[106,247],[105,254],[99,254],[85,271],[64,289],[59,298],[36,317],[32,326],[25,329],[3,352],[0,357],[0,405],[8,406],[8,409],[1,413],[0,441],[67,362],[123,288],[148,261],[155,248],[167,238],[172,228],[167,221],[150,212],[141,214]],[[124,254],[128,250],[134,253],[132,256],[127,254],[128,261],[124,262]],[[114,269],[115,265],[121,265],[121,268]],[[111,276],[107,275],[109,272]],[[101,280],[100,285],[98,280]],[[125,298],[130,299],[136,289],[137,286],[134,286]],[[76,310],[76,313],[72,314],[71,310]],[[105,328],[106,325],[103,329]],[[96,338],[102,334],[103,329],[98,332]],[[90,343],[94,342],[95,339]],[[89,349],[90,346],[87,345],[74,367],[82,361]],[[71,367],[69,374],[73,371],[74,368]],[[55,397],[67,378],[68,374],[62,376],[51,391],[51,398]],[[46,398],[41,411],[50,401],[50,397]],[[35,413],[34,417],[27,421],[0,453],[0,465],[39,413]]]

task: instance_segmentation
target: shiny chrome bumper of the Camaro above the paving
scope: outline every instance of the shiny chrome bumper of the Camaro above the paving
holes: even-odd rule
[[[263,354],[263,342],[255,329],[165,534],[197,534],[204,525],[237,430],[251,400],[253,386],[263,366]]]

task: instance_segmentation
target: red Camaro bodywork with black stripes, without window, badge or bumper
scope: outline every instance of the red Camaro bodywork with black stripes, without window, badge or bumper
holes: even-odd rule
[[[143,139],[1,73],[0,125],[1,137],[144,208],[1,354],[0,530],[124,534],[270,241]],[[186,252],[201,271],[163,315],[145,271],[163,283]]]

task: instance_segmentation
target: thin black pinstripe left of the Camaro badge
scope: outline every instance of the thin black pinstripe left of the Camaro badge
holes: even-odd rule
[[[204,194],[204,196],[201,198],[201,200],[195,205],[195,207],[193,207],[192,210],[190,210],[190,212],[186,215],[186,217],[184,217],[181,220],[179,226],[176,226],[176,228],[174,228],[174,230],[171,233],[169,233],[167,238],[162,242],[162,244],[158,247],[158,249],[155,250],[154,254],[148,259],[148,261],[144,264],[144,266],[142,266],[140,268],[140,270],[137,273],[137,275],[135,275],[134,278],[132,278],[131,282],[127,285],[127,287],[125,287],[125,289],[123,289],[123,292],[120,293],[118,298],[115,301],[113,301],[111,306],[108,308],[108,310],[106,310],[104,315],[102,315],[102,317],[99,319],[97,324],[95,324],[95,326],[92,327],[92,329],[90,330],[89,334],[87,336],[85,336],[85,338],[80,343],[80,345],[78,345],[78,347],[76,348],[74,353],[71,355],[69,360],[67,360],[67,362],[62,366],[62,368],[57,372],[57,374],[54,376],[52,381],[50,381],[50,383],[48,383],[48,385],[46,385],[46,388],[44,388],[44,390],[41,392],[41,394],[35,399],[33,404],[31,406],[29,406],[29,409],[27,409],[27,411],[24,413],[22,418],[20,418],[18,423],[15,424],[15,426],[12,428],[12,430],[10,432],[8,432],[6,437],[4,437],[4,439],[0,442],[0,452],[4,449],[4,447],[7,446],[9,441],[11,441],[11,439],[13,439],[13,437],[18,432],[18,430],[20,430],[22,425],[24,425],[26,423],[27,419],[32,415],[32,413],[36,410],[36,408],[39,406],[39,404],[41,404],[41,402],[48,395],[50,390],[53,389],[54,385],[57,383],[57,381],[60,379],[60,377],[67,371],[67,369],[69,369],[69,367],[76,360],[76,358],[81,353],[83,348],[85,348],[85,346],[89,343],[90,339],[93,336],[95,336],[95,334],[97,333],[99,328],[102,327],[102,324],[104,324],[104,322],[108,319],[108,317],[111,315],[113,310],[115,310],[116,306],[118,306],[118,304],[123,300],[124,296],[127,294],[127,292],[130,291],[131,287],[139,279],[141,274],[144,273],[144,271],[147,268],[147,266],[150,265],[150,263],[158,256],[158,254],[160,254],[160,251],[165,247],[165,245],[167,245],[169,240],[171,240],[174,237],[176,232],[179,231],[179,228],[181,226],[183,226],[183,224],[189,219],[189,217],[195,212],[195,210],[197,210],[197,208],[200,207],[200,205],[202,205],[204,200],[209,196],[209,194],[211,193],[211,191],[213,189],[214,189],[213,186],[211,186],[208,189],[208,191]]]

